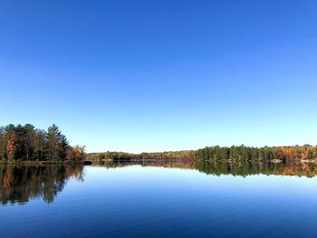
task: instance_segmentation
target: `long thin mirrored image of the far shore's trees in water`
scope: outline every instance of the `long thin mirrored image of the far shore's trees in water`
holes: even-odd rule
[[[281,175],[281,176],[317,176],[317,166],[300,162],[274,164],[264,161],[227,161],[220,160],[214,162],[195,161],[134,161],[134,162],[106,162],[106,167],[127,167],[140,165],[144,167],[178,167],[196,169],[207,175]]]

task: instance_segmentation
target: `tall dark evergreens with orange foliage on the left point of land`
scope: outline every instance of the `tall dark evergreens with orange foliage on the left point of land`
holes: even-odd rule
[[[35,129],[31,124],[0,127],[0,160],[79,161],[84,157],[84,147],[70,146],[55,124],[47,130]]]

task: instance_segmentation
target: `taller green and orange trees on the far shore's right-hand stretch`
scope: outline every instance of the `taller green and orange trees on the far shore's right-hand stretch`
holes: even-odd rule
[[[303,147],[207,147],[195,152],[197,160],[312,160],[317,158],[317,147],[304,145]]]

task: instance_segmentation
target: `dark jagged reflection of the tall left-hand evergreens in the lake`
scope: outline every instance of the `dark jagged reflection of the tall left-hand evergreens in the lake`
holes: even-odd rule
[[[0,202],[24,204],[43,196],[52,203],[70,177],[82,180],[82,166],[0,166]]]

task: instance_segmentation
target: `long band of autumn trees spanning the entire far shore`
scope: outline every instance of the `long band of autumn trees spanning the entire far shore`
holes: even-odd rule
[[[302,159],[316,159],[317,148],[309,145],[303,147],[207,147],[197,150],[158,152],[158,153],[141,153],[130,154],[124,152],[105,152],[105,153],[91,153],[87,155],[91,160],[302,160]]]

